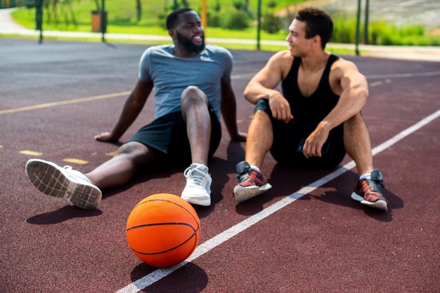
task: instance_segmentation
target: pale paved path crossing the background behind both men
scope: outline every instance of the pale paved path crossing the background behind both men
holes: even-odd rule
[[[39,37],[39,31],[34,29],[26,29],[18,25],[11,18],[11,12],[16,8],[0,9],[0,35],[12,34],[18,36],[35,36]],[[43,31],[44,36],[59,36],[65,38],[87,38],[101,39],[102,34],[96,32],[60,32],[60,31]],[[129,41],[169,41],[169,36],[147,35],[147,34],[105,34],[107,40],[127,40]],[[221,39],[207,38],[209,43],[243,43],[256,44],[257,41],[251,39]],[[285,41],[267,41],[262,40],[261,45],[272,44],[284,46]],[[329,43],[328,48],[347,48],[355,50],[354,44]],[[359,50],[364,57],[384,57],[402,60],[420,60],[420,61],[436,61],[440,62],[439,46],[371,46],[359,45]]]

